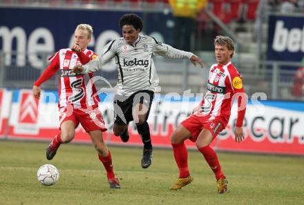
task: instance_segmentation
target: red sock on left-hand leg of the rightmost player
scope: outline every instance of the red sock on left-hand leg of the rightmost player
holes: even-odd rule
[[[188,169],[188,151],[184,142],[181,144],[172,144],[175,162],[180,170],[180,178],[189,176]]]

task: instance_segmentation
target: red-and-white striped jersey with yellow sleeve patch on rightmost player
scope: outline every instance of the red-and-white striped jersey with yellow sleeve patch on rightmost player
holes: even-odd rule
[[[200,113],[209,120],[220,116],[229,121],[231,103],[235,98],[238,99],[239,107],[241,107],[241,103],[246,102],[247,104],[247,99],[246,101],[240,99],[240,96],[244,97],[245,94],[242,77],[230,61],[226,65],[213,64],[211,66],[207,90],[205,98],[201,102]],[[243,125],[245,108],[238,110],[237,126]]]

